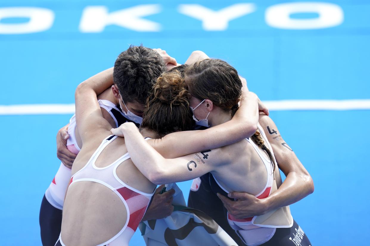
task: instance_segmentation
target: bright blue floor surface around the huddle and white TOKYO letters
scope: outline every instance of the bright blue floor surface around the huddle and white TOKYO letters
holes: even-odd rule
[[[240,2],[184,4],[219,10]],[[370,99],[369,2],[330,1],[343,10],[343,23],[315,30],[270,27],[265,12],[277,2],[255,1],[255,12],[230,21],[226,30],[205,31],[201,21],[178,13],[175,1],[4,0],[0,11],[43,7],[54,11],[55,19],[40,33],[1,34],[1,25],[27,19],[0,15],[0,105],[73,103],[78,83],[112,67],[129,44],[140,43],[165,49],[179,63],[193,50],[226,60],[261,100]],[[101,33],[78,29],[86,6],[115,11],[152,3],[162,6],[161,13],[144,18],[160,23],[159,32],[114,25]],[[314,180],[314,193],[291,206],[312,245],[369,245],[370,110],[272,111],[270,116]],[[40,203],[60,164],[55,135],[70,117],[0,115],[0,245],[41,245]],[[190,183],[180,184],[185,197]],[[144,245],[138,232],[134,245]]]

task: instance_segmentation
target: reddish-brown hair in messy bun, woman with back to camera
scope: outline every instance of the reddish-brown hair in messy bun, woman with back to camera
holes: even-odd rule
[[[194,120],[189,97],[179,71],[161,74],[149,93],[141,127],[156,131],[161,138],[171,132],[191,130]]]

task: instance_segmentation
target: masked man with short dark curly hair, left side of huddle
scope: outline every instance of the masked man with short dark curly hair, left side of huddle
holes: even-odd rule
[[[111,88],[107,88],[97,97],[103,117],[112,127],[118,127],[124,122],[134,122],[139,126],[145,99],[157,77],[175,65],[176,60],[161,49],[130,46],[123,51],[114,67],[89,79],[109,81],[112,84]],[[58,157],[62,163],[45,192],[40,208],[41,241],[44,246],[55,245],[60,234],[64,196],[71,178],[71,166],[82,148],[75,116],[61,132],[64,132],[63,139],[58,133],[57,146]],[[144,220],[163,218],[171,214],[174,191],[161,195],[160,190],[161,188],[156,192],[153,206]]]

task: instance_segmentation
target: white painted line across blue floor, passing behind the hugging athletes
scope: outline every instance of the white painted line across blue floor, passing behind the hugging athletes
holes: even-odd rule
[[[270,111],[368,110],[370,99],[263,101]],[[74,114],[74,104],[0,105],[0,115]]]

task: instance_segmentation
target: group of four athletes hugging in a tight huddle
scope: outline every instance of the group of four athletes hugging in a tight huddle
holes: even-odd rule
[[[139,222],[171,215],[163,184],[191,179],[188,206],[238,245],[310,245],[289,205],[313,192],[312,178],[225,61],[194,51],[180,65],[130,46],[78,85],[75,107],[41,203],[44,246],[127,246]]]

